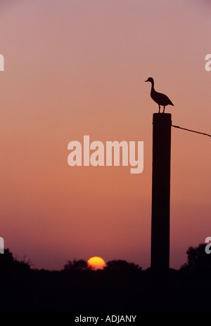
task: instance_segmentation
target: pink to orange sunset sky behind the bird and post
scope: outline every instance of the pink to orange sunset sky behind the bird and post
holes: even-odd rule
[[[35,268],[101,256],[150,266],[155,89],[211,133],[208,0],[0,1],[5,246]],[[144,170],[70,167],[68,143],[143,141]],[[211,236],[209,137],[172,129],[170,266]]]

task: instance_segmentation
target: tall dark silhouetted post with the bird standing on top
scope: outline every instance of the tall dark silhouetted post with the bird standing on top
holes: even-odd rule
[[[153,190],[151,224],[151,269],[170,267],[170,113],[153,114]]]

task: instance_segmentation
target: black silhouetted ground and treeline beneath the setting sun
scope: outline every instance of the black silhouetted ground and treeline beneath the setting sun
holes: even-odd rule
[[[211,254],[205,255],[200,246],[189,249],[184,268],[165,274],[125,261],[111,261],[106,270],[96,271],[70,269],[77,264],[60,271],[34,270],[7,250],[0,255],[0,311],[211,311]]]

